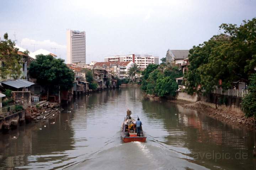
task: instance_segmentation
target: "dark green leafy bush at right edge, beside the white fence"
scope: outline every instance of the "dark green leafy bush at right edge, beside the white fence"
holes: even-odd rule
[[[251,75],[248,90],[249,94],[242,99],[242,111],[247,117],[256,117],[256,74]]]

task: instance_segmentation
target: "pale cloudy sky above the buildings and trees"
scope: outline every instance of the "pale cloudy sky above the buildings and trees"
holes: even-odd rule
[[[255,9],[256,0],[0,0],[0,37],[16,34],[18,46],[66,60],[66,30],[80,30],[86,63],[132,53],[162,58],[222,33],[222,23],[239,26]]]

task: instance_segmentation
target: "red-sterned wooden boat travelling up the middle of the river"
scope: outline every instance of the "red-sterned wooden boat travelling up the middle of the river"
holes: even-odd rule
[[[140,133],[140,136],[137,136],[136,132],[136,121],[132,119],[134,126],[129,129],[127,121],[124,120],[121,127],[121,136],[123,138],[123,141],[125,143],[127,142],[146,142],[146,136],[143,132],[143,130]]]

